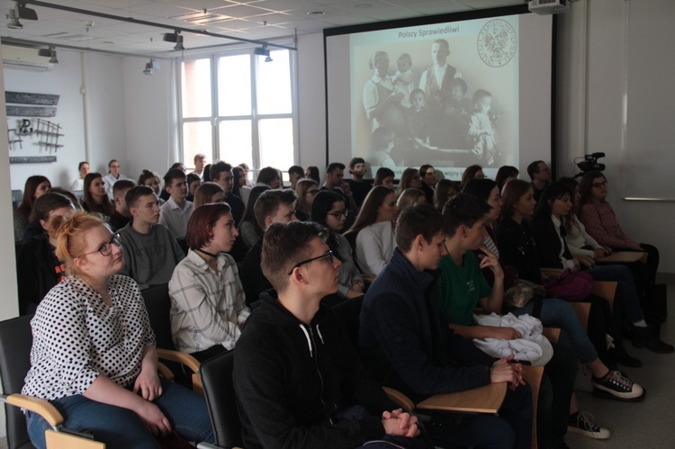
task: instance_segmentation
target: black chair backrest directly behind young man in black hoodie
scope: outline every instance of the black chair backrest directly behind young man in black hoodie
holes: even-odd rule
[[[241,422],[232,384],[233,368],[234,351],[228,351],[203,362],[199,370],[216,445],[225,449],[243,447]]]

